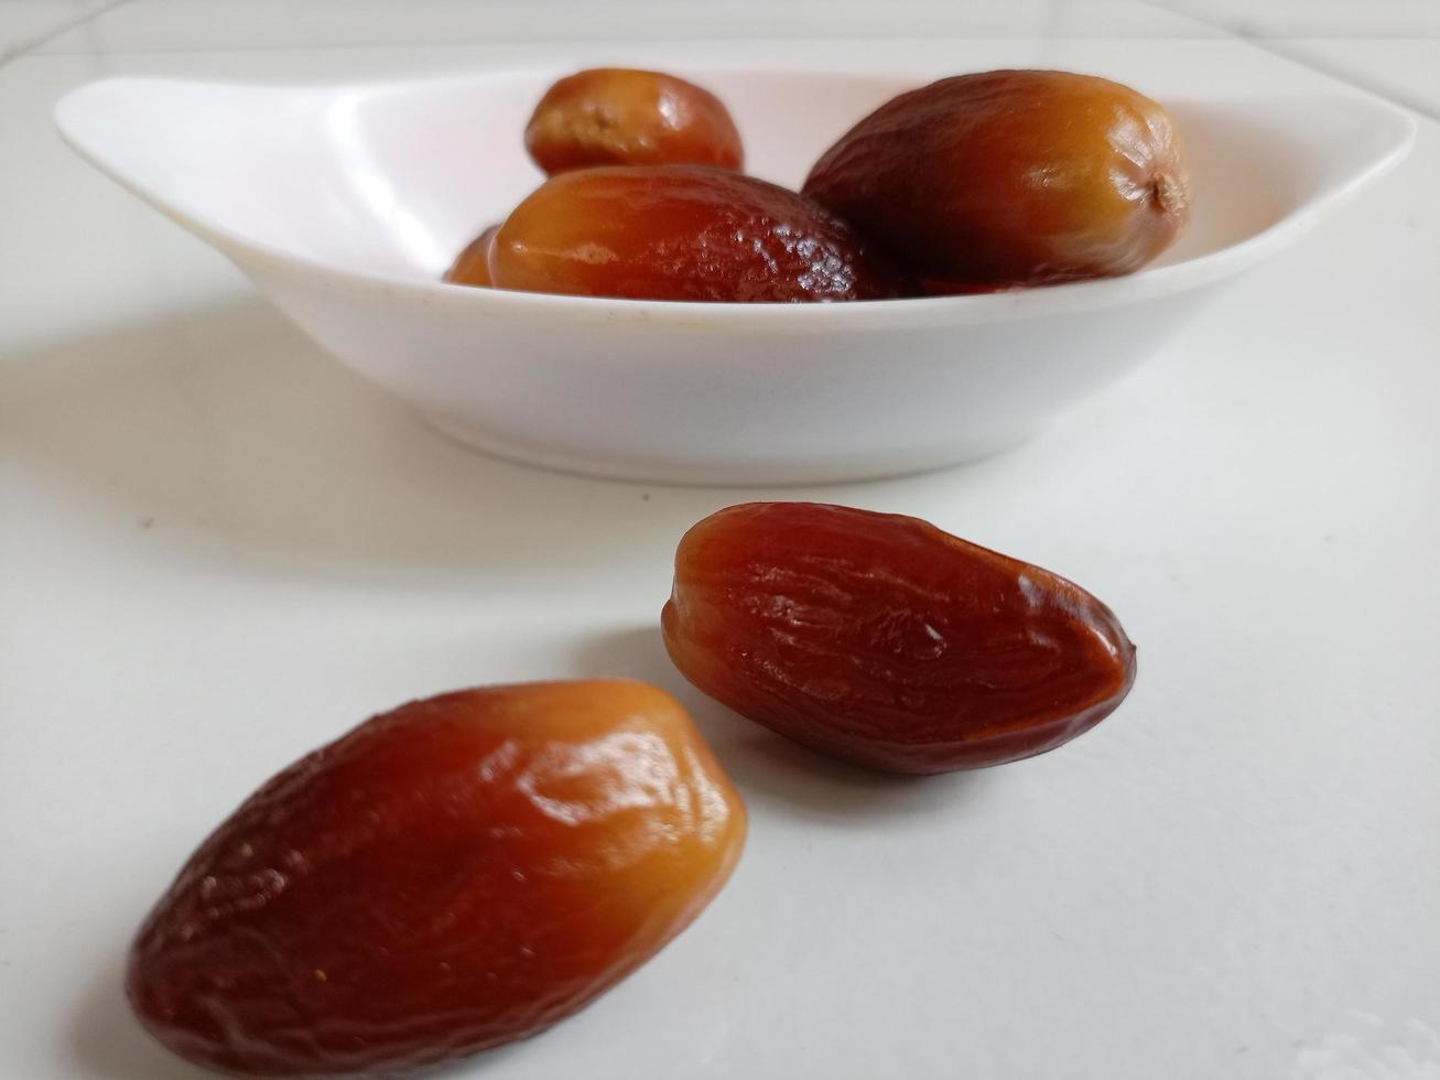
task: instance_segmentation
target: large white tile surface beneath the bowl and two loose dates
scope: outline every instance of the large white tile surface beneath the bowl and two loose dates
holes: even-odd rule
[[[887,48],[971,66],[1145,46]],[[775,492],[582,481],[445,442],[71,158],[46,115],[101,73],[348,76],[537,52],[553,55],[0,69],[0,147],[23,163],[0,168],[0,1077],[199,1076],[138,1031],[118,972],[203,831],[372,711],[572,674],[681,696],[750,804],[750,847],[654,963],[456,1076],[1430,1076],[1440,127],[1041,439]],[[1152,62],[1234,79],[1273,63],[1225,42]],[[668,667],[655,615],[684,527],[756,495],[916,513],[1076,577],[1140,644],[1132,698],[1054,755],[900,785],[733,719]]]

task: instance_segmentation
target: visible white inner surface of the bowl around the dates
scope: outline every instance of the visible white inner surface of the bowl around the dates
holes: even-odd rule
[[[59,121],[105,168],[193,226],[333,266],[433,281],[541,180],[523,131],[557,73],[308,88],[118,79],[63,101]],[[792,187],[860,117],[924,82],[678,73],[730,107],[747,170]],[[1361,96],[1151,92],[1175,115],[1195,187],[1192,220],[1156,265],[1221,252],[1318,209],[1403,153],[1410,134],[1403,114]]]

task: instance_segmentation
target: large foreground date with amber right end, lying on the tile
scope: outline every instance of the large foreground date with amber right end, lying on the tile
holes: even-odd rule
[[[744,809],[642,683],[444,694],[301,759],[204,841],[128,994],[193,1063],[396,1073],[533,1035],[720,890]]]

